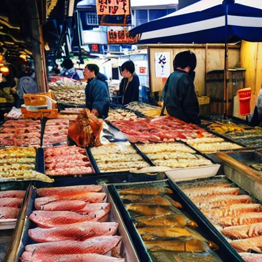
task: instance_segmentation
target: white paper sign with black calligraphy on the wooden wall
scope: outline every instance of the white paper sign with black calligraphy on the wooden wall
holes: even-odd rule
[[[156,77],[167,78],[169,77],[170,70],[170,53],[160,52],[155,55],[155,70]]]

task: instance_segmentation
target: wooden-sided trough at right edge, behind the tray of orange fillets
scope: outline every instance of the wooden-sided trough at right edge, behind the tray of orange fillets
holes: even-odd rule
[[[225,175],[234,183],[262,201],[262,171],[256,171],[249,164],[261,164],[262,156],[253,150],[217,153],[224,162]]]

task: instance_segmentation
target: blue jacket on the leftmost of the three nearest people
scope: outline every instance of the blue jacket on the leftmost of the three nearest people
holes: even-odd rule
[[[106,76],[99,73],[85,86],[85,107],[90,111],[96,109],[99,113],[98,117],[105,119],[108,116],[109,104]]]

